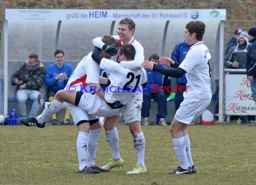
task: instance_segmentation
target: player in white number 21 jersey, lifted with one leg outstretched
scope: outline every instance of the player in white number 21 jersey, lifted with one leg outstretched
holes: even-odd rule
[[[128,49],[127,49],[128,48]],[[98,48],[97,48],[98,49]],[[129,53],[133,53],[128,55]],[[101,50],[102,53],[105,53]],[[135,55],[135,48],[131,44],[126,44],[122,46],[122,49],[119,52],[119,57],[127,60],[131,60]],[[125,55],[126,53],[126,55]],[[128,54],[127,54],[128,53]],[[91,61],[87,61],[91,62]],[[101,58],[101,68],[106,70],[110,73],[110,86],[113,87],[111,90],[106,91],[105,97],[101,99],[97,95],[93,95],[91,93],[71,93],[68,92],[66,89],[58,91],[55,95],[53,103],[47,104],[45,110],[43,111],[42,115],[37,116],[37,118],[22,118],[21,122],[26,126],[38,126],[38,124],[42,124],[50,115],[59,111],[62,106],[63,101],[69,102],[72,105],[78,106],[85,110],[89,115],[100,115],[100,116],[114,116],[119,115],[120,108],[123,107],[129,99],[134,95],[134,92],[128,89],[128,92],[122,90],[123,87],[128,87],[130,89],[136,89],[138,84],[145,84],[146,83],[146,75],[141,75],[141,70],[129,70],[124,68],[117,62],[107,60],[106,58]],[[135,80],[131,80],[128,78],[136,77]],[[144,78],[141,78],[143,76]],[[114,92],[113,92],[114,89]],[[96,89],[98,91],[98,89]],[[82,101],[80,101],[82,100]],[[91,131],[90,131],[91,134]],[[97,133],[96,133],[97,135]],[[98,138],[97,138],[98,139]],[[95,142],[95,141],[94,141]],[[87,141],[87,147],[89,147]],[[91,143],[90,143],[91,144]],[[87,163],[88,165],[88,163]],[[146,172],[146,167],[144,168]]]

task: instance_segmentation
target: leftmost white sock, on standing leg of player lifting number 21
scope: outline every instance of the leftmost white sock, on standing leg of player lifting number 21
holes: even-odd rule
[[[79,170],[82,170],[82,169],[84,169],[84,167],[86,167],[87,138],[88,138],[88,133],[78,132],[76,148],[77,148]]]

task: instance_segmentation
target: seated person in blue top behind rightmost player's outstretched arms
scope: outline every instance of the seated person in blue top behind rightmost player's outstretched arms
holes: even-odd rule
[[[159,56],[157,54],[153,54],[149,57],[150,61],[155,62],[157,65],[166,68],[162,64],[158,62]],[[157,118],[159,118],[159,125],[167,125],[165,116],[167,115],[167,96],[165,95],[164,91],[161,92],[159,86],[170,86],[170,80],[168,76],[165,76],[159,72],[151,71],[146,69],[148,82],[147,86],[143,91],[143,102],[141,108],[141,116],[144,118],[142,125],[148,125],[148,118],[150,116],[150,104],[151,99],[157,102],[158,104],[158,114]],[[152,89],[153,85],[153,89]],[[158,89],[156,91],[156,88]]]

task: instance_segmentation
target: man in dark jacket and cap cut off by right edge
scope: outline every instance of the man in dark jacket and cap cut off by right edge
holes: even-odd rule
[[[248,31],[247,38],[252,44],[247,52],[246,71],[247,77],[251,82],[252,98],[256,101],[256,27],[252,27]],[[254,123],[249,125],[256,126],[256,119]]]

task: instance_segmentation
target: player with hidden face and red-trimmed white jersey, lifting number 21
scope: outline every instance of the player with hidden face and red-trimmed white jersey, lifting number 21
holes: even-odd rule
[[[111,45],[115,45],[118,47],[118,41],[113,38],[111,35],[104,35],[102,37],[102,40]],[[115,49],[114,48],[109,48],[109,50],[112,49],[109,53],[115,54]],[[103,53],[103,57],[110,58],[109,53]],[[117,50],[116,50],[117,53]],[[86,68],[88,67],[88,63],[94,62],[92,57],[92,52],[88,53],[76,66],[74,72],[72,73],[66,87],[66,89],[69,92],[89,92],[89,86],[85,82],[86,78],[88,75],[94,75],[91,71],[88,71],[86,73]],[[99,72],[99,70],[97,70]],[[95,79],[100,80],[101,84],[107,84],[108,79],[106,78],[98,78],[97,76],[94,76]],[[42,97],[40,97],[42,98]],[[43,101],[41,101],[43,103]],[[47,103],[46,103],[47,104]],[[90,143],[94,144],[97,143],[99,134],[101,133],[102,127],[101,124],[98,122],[98,116],[96,115],[88,115],[84,110],[80,109],[77,106],[74,106],[70,103],[66,103],[66,106],[71,112],[73,121],[75,125],[78,127],[79,132],[78,132],[78,137],[76,141],[76,147],[77,147],[77,153],[78,153],[78,161],[79,161],[79,171],[80,173],[98,173],[104,172],[106,170],[98,167],[95,165],[95,163],[88,163],[87,164],[87,141],[90,139]],[[35,124],[34,126],[38,126],[40,128],[43,128],[45,126],[44,123],[38,123]],[[89,133],[90,131],[90,133]],[[95,134],[97,133],[97,134]],[[96,136],[95,136],[96,135]]]

